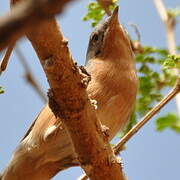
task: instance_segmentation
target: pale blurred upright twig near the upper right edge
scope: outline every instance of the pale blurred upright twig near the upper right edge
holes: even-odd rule
[[[166,28],[167,45],[168,45],[169,53],[176,54],[176,41],[175,41],[175,32],[174,32],[176,20],[173,16],[170,16],[167,13],[166,7],[162,0],[154,0],[154,4]],[[172,73],[179,76],[180,70],[174,69]],[[177,104],[178,112],[180,114],[180,95],[177,95],[176,97],[176,104]]]

